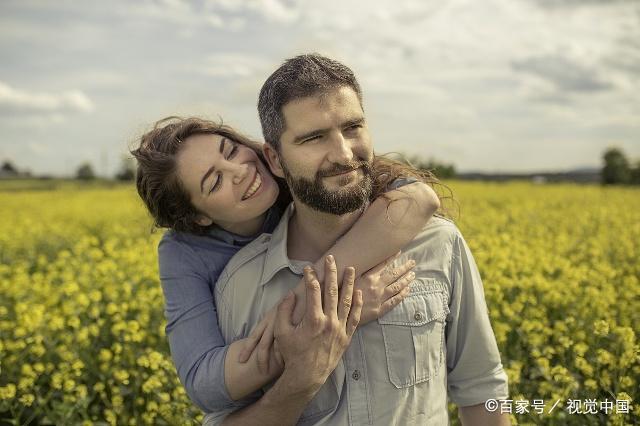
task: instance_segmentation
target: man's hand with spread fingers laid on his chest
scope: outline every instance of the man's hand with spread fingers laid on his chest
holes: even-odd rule
[[[306,311],[298,325],[292,323],[293,293],[280,303],[275,338],[292,393],[314,395],[335,369],[360,321],[362,293],[353,292],[355,270],[346,268],[338,289],[333,256],[325,261],[324,303],[321,286],[311,267],[304,270]]]

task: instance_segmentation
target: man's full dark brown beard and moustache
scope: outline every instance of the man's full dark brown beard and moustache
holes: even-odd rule
[[[371,164],[366,161],[352,162],[349,165],[336,164],[330,170],[319,170],[314,180],[293,177],[283,162],[281,165],[291,193],[301,202],[319,212],[341,216],[363,208],[371,197],[372,168]],[[330,191],[322,183],[323,177],[357,168],[360,168],[364,175],[358,184]]]

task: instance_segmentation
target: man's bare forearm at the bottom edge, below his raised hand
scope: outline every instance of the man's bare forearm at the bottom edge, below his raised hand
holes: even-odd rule
[[[225,426],[255,425],[282,426],[295,425],[305,407],[313,399],[320,387],[313,387],[292,393],[299,388],[296,377],[285,371],[276,383],[258,401],[228,415]]]

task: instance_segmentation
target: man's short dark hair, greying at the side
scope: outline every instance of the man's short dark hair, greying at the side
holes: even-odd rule
[[[317,53],[287,59],[260,89],[258,114],[265,141],[280,151],[280,137],[285,130],[282,107],[288,102],[342,86],[356,92],[362,107],[360,85],[346,65]]]

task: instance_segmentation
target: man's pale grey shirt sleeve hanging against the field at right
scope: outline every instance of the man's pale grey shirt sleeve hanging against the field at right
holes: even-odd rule
[[[447,324],[450,399],[459,407],[487,399],[507,399],[507,375],[484,298],[480,272],[461,235],[455,238],[451,265],[452,296]]]

